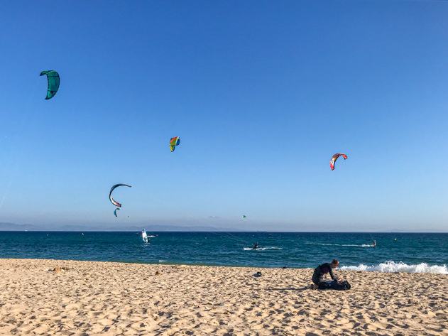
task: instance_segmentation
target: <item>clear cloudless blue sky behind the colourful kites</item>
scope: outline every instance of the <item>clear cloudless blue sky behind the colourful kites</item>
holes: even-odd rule
[[[447,1],[1,1],[0,222],[448,229],[447,18]]]

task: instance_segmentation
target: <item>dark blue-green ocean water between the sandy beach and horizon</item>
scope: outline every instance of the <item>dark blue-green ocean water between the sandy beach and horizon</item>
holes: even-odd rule
[[[0,232],[0,258],[448,274],[447,233]],[[152,237],[153,236],[153,237]],[[376,246],[372,246],[376,240]],[[258,242],[258,249],[252,250]]]

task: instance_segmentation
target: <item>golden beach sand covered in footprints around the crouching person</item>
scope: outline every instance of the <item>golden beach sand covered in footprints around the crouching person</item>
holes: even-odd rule
[[[315,291],[312,269],[35,259],[0,267],[0,335],[448,335],[442,274],[335,271],[351,290]]]

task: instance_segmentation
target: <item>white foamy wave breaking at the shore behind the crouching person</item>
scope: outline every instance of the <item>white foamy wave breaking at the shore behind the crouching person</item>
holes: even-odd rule
[[[447,265],[428,265],[421,263],[417,265],[408,265],[400,261],[386,261],[378,265],[367,266],[365,264],[359,264],[359,266],[342,266],[339,269],[344,271],[376,271],[376,272],[407,272],[407,273],[435,273],[435,274],[448,274]]]

